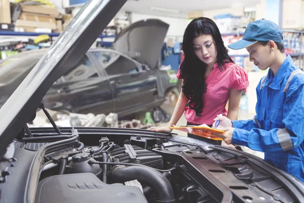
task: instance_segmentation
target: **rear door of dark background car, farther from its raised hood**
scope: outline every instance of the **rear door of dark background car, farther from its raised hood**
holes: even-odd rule
[[[108,114],[114,108],[108,81],[87,55],[53,84],[47,98],[51,109],[77,113]]]

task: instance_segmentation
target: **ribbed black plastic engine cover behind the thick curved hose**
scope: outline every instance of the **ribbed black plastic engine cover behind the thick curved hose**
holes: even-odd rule
[[[161,155],[137,146],[125,145],[113,150],[110,155],[123,163],[138,163],[159,169],[164,167]]]

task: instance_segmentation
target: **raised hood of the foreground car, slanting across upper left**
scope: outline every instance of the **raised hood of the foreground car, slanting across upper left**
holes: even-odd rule
[[[127,0],[88,0],[0,109],[0,158],[52,84],[77,64]],[[5,115],[5,116],[4,116]]]

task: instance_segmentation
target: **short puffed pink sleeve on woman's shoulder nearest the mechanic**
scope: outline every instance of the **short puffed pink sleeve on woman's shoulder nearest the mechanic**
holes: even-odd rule
[[[248,76],[243,67],[236,65],[233,69],[232,77],[232,88],[233,89],[245,89],[249,86]]]

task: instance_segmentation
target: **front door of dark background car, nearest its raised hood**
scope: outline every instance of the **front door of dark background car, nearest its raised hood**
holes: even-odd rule
[[[157,79],[141,69],[141,64],[116,51],[91,51],[100,70],[107,74],[115,99],[115,112],[120,116],[136,112],[153,103]]]

